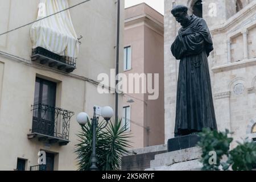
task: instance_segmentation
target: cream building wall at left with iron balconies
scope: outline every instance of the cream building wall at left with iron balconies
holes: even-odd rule
[[[1,1],[0,32],[36,20],[39,2]],[[69,7],[80,2],[68,1]],[[123,36],[123,10],[121,1],[120,38]],[[110,69],[115,69],[117,3],[114,0],[88,1],[70,9],[69,13],[76,34],[79,38],[82,36],[75,70],[63,69],[68,66],[62,64],[56,69],[52,68],[56,63],[46,63],[49,60],[42,59],[42,55],[39,63],[35,63],[35,60],[40,56],[31,60],[31,25],[0,36],[0,170],[14,170],[17,164],[30,170],[31,166],[38,165],[39,151],[47,152],[51,169],[77,170],[76,134],[81,127],[76,115],[85,111],[92,117],[94,105],[115,108],[114,94],[97,92],[100,82],[97,76],[100,73],[110,75]],[[121,70],[122,39],[119,45]],[[54,92],[55,97],[51,98],[49,95]],[[36,107],[38,98],[39,101],[53,101],[53,111],[51,106],[40,103]],[[119,96],[119,117],[122,117],[122,106],[122,96]],[[52,112],[55,114],[52,115]],[[59,115],[56,116],[56,113]],[[52,119],[59,123],[54,134],[33,128],[35,123],[41,123],[44,128],[53,127],[47,123]],[[60,135],[55,135],[55,131]]]

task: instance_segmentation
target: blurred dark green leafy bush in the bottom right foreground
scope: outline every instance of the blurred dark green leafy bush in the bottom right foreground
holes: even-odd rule
[[[229,131],[225,133],[218,133],[217,131],[211,131],[204,129],[199,134],[201,140],[199,146],[202,149],[201,162],[203,163],[202,170],[218,171],[220,169],[227,171],[232,167],[234,171],[250,171],[256,164],[256,143],[244,142],[238,143],[238,146],[230,151],[230,143],[232,138],[228,137]],[[215,151],[217,158],[216,164],[210,164],[209,159],[210,151]],[[222,159],[226,155],[227,160]]]

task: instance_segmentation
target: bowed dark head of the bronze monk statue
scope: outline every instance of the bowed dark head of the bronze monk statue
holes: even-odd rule
[[[172,15],[174,15],[177,22],[181,26],[185,26],[189,21],[188,7],[184,5],[177,5],[171,10]]]

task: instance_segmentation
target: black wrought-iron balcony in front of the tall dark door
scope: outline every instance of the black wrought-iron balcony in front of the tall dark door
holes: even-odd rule
[[[28,139],[38,138],[60,146],[69,143],[69,124],[74,112],[43,104],[33,105],[32,111],[32,130]]]

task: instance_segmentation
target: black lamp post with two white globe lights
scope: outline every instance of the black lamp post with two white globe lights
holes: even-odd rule
[[[102,127],[101,129],[104,129],[114,114],[114,111],[111,107],[105,106],[101,109],[101,116],[105,119],[106,125]],[[93,107],[93,118],[92,120],[92,130],[93,130],[93,143],[92,143],[92,160],[91,160],[91,166],[90,171],[98,171],[97,167],[97,155],[96,155],[96,128],[98,127],[98,118],[96,116],[96,107]],[[88,114],[86,113],[79,113],[77,115],[77,122],[80,125],[85,125],[88,122]]]

